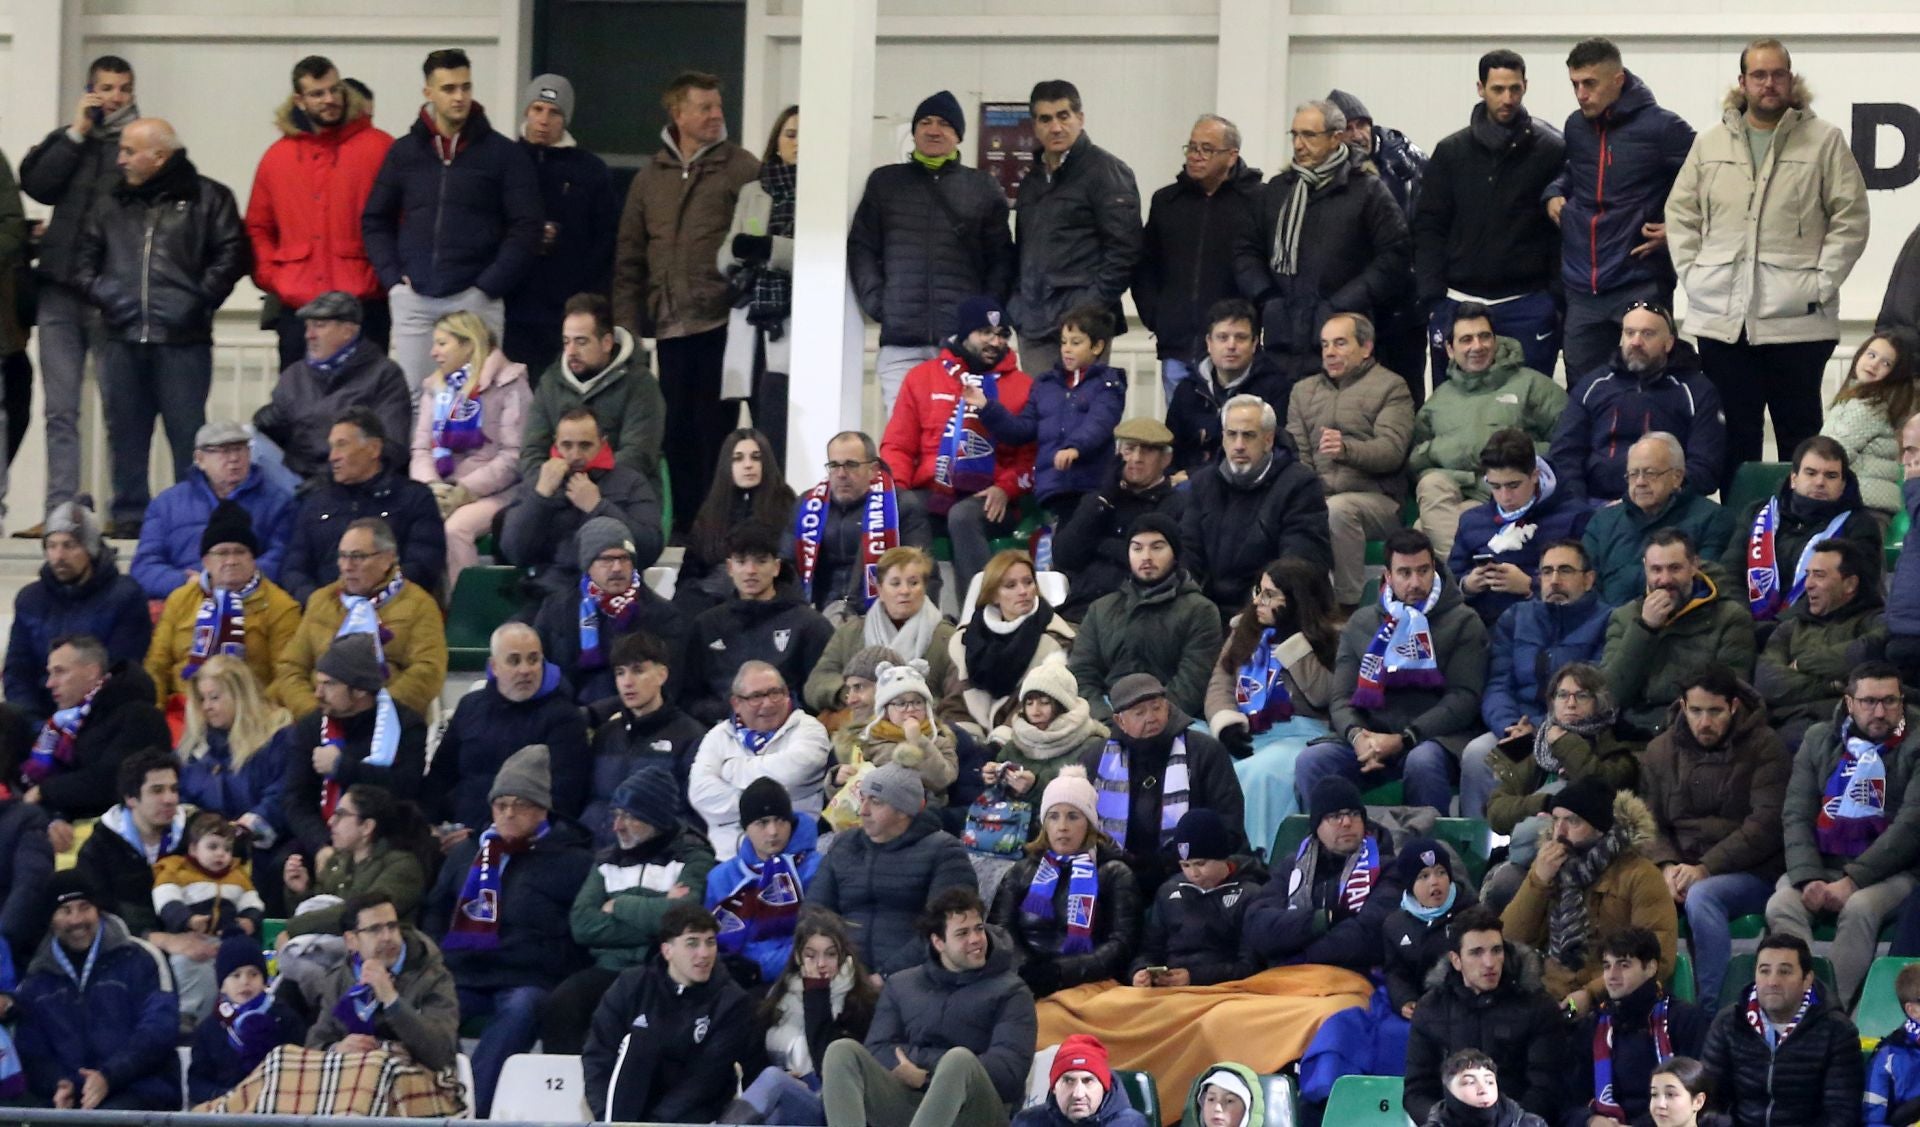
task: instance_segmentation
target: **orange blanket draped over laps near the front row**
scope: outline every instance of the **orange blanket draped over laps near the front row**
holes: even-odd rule
[[[1306,1054],[1325,1018],[1365,1008],[1371,995],[1365,977],[1331,966],[1281,966],[1217,987],[1087,983],[1039,1002],[1039,1043],[1096,1035],[1114,1067],[1154,1073],[1160,1115],[1179,1123],[1187,1089],[1210,1064],[1281,1071]]]

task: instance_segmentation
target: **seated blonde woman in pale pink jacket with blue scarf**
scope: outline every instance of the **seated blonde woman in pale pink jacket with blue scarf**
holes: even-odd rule
[[[520,430],[534,401],[526,365],[499,351],[476,313],[434,323],[434,374],[420,384],[413,422],[413,480],[434,492],[447,522],[447,589],[480,563],[474,541],[520,480]]]

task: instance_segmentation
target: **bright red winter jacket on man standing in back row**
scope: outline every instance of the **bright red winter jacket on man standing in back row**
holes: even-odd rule
[[[286,136],[259,157],[246,205],[253,284],[288,309],[328,290],[361,300],[382,296],[361,242],[361,211],[394,136],[374,129],[367,102],[351,88],[348,119],[336,129],[298,125],[292,98],[280,104],[275,121]]]

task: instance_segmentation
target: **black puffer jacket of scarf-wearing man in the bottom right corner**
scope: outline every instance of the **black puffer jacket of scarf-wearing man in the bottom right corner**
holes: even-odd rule
[[[1701,1064],[1713,1081],[1713,1102],[1736,1123],[1841,1127],[1860,1121],[1860,1031],[1826,1000],[1814,1004],[1793,1033],[1768,1048],[1747,1025],[1745,998],[1720,1010],[1707,1029]]]

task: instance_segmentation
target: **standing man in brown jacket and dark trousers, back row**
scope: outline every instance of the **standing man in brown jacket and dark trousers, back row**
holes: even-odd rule
[[[634,177],[620,213],[612,319],[660,349],[660,392],[678,420],[666,434],[666,463],[684,528],[707,495],[708,459],[732,430],[720,409],[728,284],[716,263],[760,161],[728,140],[714,75],[676,75],[660,104],[668,119],[660,150]]]

